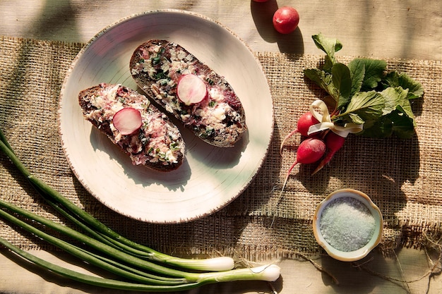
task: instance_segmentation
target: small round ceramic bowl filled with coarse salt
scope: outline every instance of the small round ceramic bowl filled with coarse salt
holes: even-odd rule
[[[333,205],[330,206],[330,204]],[[341,210],[338,210],[338,204],[342,204],[339,208]],[[326,212],[324,209],[327,209]],[[324,223],[325,220],[328,222]],[[344,229],[340,230],[340,226]],[[353,262],[366,257],[381,241],[382,228],[381,211],[366,194],[358,190],[342,189],[331,193],[318,204],[313,216],[313,234],[316,241],[330,257],[343,262]],[[366,233],[368,231],[370,233]],[[344,235],[342,232],[348,232],[348,234]],[[349,238],[352,240],[349,241]],[[358,245],[358,242],[362,244]],[[330,243],[335,243],[334,247]]]

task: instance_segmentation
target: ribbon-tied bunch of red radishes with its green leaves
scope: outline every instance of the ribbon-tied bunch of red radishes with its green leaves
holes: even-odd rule
[[[335,55],[342,49],[338,39],[321,33],[311,37],[326,54],[325,62],[304,69],[304,76],[327,95],[310,105],[309,113],[299,118],[297,129],[282,141],[280,151],[294,133],[303,138],[282,190],[294,166],[316,163],[312,174],[317,173],[342,148],[350,133],[374,138],[413,137],[416,121],[411,100],[424,95],[422,85],[406,73],[388,72],[386,61],[357,58],[340,63]]]

